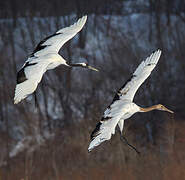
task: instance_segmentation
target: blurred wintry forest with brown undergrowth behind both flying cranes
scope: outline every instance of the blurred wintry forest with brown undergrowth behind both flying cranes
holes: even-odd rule
[[[100,71],[58,67],[13,104],[16,73],[47,35],[88,14],[61,54]],[[91,153],[90,133],[114,93],[153,50],[162,56],[134,101],[175,112],[138,113]],[[0,1],[0,180],[185,179],[185,1]]]

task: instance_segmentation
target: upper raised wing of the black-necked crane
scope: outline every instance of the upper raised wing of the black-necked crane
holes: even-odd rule
[[[48,53],[58,53],[64,43],[73,38],[83,28],[86,20],[87,16],[83,16],[73,25],[46,37],[37,45],[31,56],[38,57]]]

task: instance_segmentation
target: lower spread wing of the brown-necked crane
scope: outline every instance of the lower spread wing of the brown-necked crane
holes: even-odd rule
[[[127,108],[125,102],[117,100],[113,102],[104,112],[104,115],[96,128],[91,134],[91,142],[88,147],[90,152],[93,148],[100,145],[102,142],[111,139],[112,134],[115,134],[115,128],[117,124],[119,127],[122,124],[119,123],[120,119],[126,114]],[[120,129],[122,130],[122,129]]]

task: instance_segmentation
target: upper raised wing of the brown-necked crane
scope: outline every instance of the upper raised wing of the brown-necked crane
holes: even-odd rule
[[[131,78],[118,90],[113,101],[118,99],[133,101],[136,91],[151,74],[160,56],[161,50],[157,50],[147,57],[145,61],[142,61]]]

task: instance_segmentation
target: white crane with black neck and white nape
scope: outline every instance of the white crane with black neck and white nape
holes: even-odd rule
[[[54,69],[61,64],[69,67],[82,67],[98,71],[87,63],[71,64],[58,54],[64,43],[73,38],[83,28],[86,20],[87,16],[83,16],[73,25],[60,29],[53,35],[43,39],[37,45],[33,53],[17,73],[14,104],[19,103],[22,99],[36,90],[38,83],[47,70]]]

